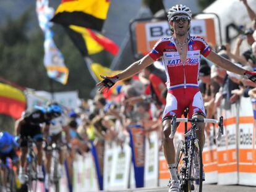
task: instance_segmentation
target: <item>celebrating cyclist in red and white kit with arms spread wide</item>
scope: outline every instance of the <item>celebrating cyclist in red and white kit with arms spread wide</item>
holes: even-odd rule
[[[175,149],[173,144],[173,135],[169,138],[171,129],[171,117],[176,115],[181,117],[184,109],[189,107],[189,117],[205,117],[202,95],[198,89],[198,71],[200,65],[200,56],[207,57],[211,62],[228,71],[245,75],[250,80],[256,82],[256,72],[247,70],[234,65],[231,61],[224,59],[210,47],[203,38],[199,36],[190,36],[189,27],[192,19],[192,12],[187,6],[176,5],[171,7],[168,12],[168,21],[173,31],[173,35],[167,38],[161,38],[150,53],[127,69],[113,77],[105,77],[103,81],[97,84],[99,91],[109,89],[116,81],[123,80],[135,73],[145,69],[157,59],[162,58],[168,81],[168,94],[166,96],[166,106],[163,112],[163,133],[164,133],[164,156],[168,162],[171,182],[169,191],[179,191],[179,180],[175,166]],[[203,149],[205,143],[204,125],[199,123],[197,133],[200,147]],[[170,128],[171,127],[171,128]],[[196,166],[196,165],[195,165]],[[195,169],[195,175],[198,170]]]

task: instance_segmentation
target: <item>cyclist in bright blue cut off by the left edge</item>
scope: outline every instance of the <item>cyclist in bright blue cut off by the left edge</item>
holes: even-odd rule
[[[1,160],[1,169],[4,172],[3,184],[6,188],[7,184],[7,172],[6,166],[8,166],[7,158],[12,159],[12,165],[19,167],[19,157],[17,156],[17,147],[19,146],[16,143],[14,136],[7,132],[0,132],[0,160]],[[6,189],[3,189],[3,191]]]

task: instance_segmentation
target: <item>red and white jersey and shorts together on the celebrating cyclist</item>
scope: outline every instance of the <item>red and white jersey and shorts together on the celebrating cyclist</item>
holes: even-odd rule
[[[206,41],[198,36],[189,36],[187,42],[187,57],[184,63],[173,36],[161,38],[149,53],[155,61],[162,57],[166,72],[168,95],[163,117],[174,114],[180,117],[185,107],[190,108],[189,117],[195,112],[205,114],[202,95],[198,89],[198,73],[201,54],[207,57],[211,49]]]

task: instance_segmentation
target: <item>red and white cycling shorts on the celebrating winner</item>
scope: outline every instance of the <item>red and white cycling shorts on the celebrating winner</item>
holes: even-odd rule
[[[203,98],[198,86],[187,88],[182,86],[169,89],[166,96],[166,106],[164,108],[162,119],[173,115],[180,118],[181,115],[184,114],[186,107],[189,107],[189,118],[197,112],[201,112],[205,115]]]

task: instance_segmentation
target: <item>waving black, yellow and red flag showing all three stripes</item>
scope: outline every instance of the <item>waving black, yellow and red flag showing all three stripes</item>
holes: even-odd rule
[[[119,50],[116,43],[88,28],[70,25],[66,31],[82,56],[96,54],[104,49],[116,56]]]

